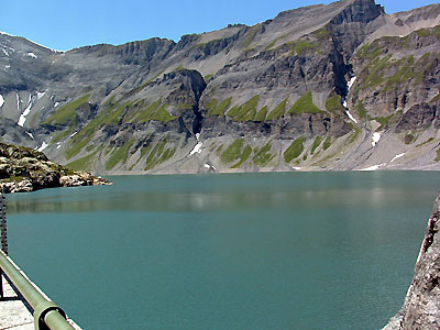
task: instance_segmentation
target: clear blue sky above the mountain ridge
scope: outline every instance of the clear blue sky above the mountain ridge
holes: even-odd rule
[[[0,0],[0,31],[66,51],[99,43],[123,44],[158,36],[255,23],[298,7],[327,0]],[[387,13],[438,1],[376,0]]]

